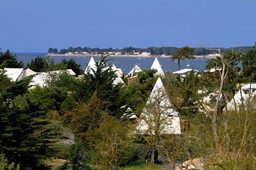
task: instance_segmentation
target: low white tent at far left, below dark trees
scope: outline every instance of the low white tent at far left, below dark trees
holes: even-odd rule
[[[27,77],[24,69],[4,68],[4,70],[6,71],[4,75],[11,78],[12,82],[20,81],[23,77]]]

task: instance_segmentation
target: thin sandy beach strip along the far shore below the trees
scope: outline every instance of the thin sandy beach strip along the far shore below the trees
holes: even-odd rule
[[[101,54],[96,54],[96,55],[89,55],[89,54],[48,54],[45,56],[54,56],[54,57],[101,57]],[[109,55],[108,57],[128,57],[128,58],[155,58],[155,55]],[[170,58],[172,55],[165,55],[165,56],[159,56],[157,55],[157,58]],[[196,58],[216,58],[216,57],[211,57],[211,56],[205,56],[205,55],[194,55]]]

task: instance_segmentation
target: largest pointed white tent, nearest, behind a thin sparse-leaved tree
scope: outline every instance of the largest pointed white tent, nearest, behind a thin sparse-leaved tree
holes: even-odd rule
[[[157,106],[157,104],[159,104]],[[153,109],[151,109],[153,108]],[[157,113],[153,113],[157,110]],[[159,117],[155,115],[161,114]],[[154,126],[154,119],[162,121],[160,125],[160,134],[180,134],[180,117],[178,112],[172,108],[172,104],[169,101],[169,97],[166,93],[165,87],[163,86],[161,78],[158,78],[155,86],[147,100],[146,106],[144,107],[141,116],[143,120],[140,121],[136,130],[142,134],[147,134],[149,130],[149,124]],[[148,123],[147,123],[148,122]],[[152,132],[151,132],[152,133]]]

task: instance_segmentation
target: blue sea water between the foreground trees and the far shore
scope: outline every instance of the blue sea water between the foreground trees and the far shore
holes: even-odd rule
[[[13,53],[16,54],[18,61],[23,61],[25,63],[25,66],[27,62],[31,62],[32,59],[36,58],[38,55],[42,57],[47,57],[44,55],[47,55],[48,53]],[[66,59],[67,61],[71,58],[75,60],[76,63],[81,64],[81,69],[85,70],[87,67],[87,63],[89,63],[91,57],[74,57],[74,56],[52,56],[50,59],[54,59],[54,63],[59,63],[61,60]],[[93,57],[95,62],[99,62],[100,57]],[[138,59],[141,58],[141,59]],[[138,56],[138,58],[135,57],[107,57],[106,59],[110,59],[108,61],[109,64],[114,65],[117,68],[120,68],[123,70],[123,73],[129,73],[132,68],[135,66],[135,64],[138,64],[142,70],[144,69],[150,69],[155,57],[145,57]],[[157,58],[160,65],[162,66],[163,71],[171,71],[176,72],[178,71],[178,62],[170,61],[170,58]],[[204,71],[206,70],[206,62],[209,59],[207,58],[196,58],[196,59],[190,59],[189,60],[189,66],[188,65],[188,59],[180,60],[180,69],[195,69],[198,71]],[[177,61],[177,59],[175,60]]]

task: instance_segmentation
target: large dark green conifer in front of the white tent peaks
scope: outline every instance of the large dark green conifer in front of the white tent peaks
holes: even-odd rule
[[[121,93],[123,88],[122,84],[113,85],[117,76],[108,64],[109,60],[105,59],[106,57],[102,54],[99,63],[96,62],[97,69],[90,68],[91,70],[84,75],[83,80],[76,81],[77,89],[73,95],[76,101],[88,103],[96,91],[97,98],[101,100],[103,108],[111,111],[111,114],[117,115],[122,113],[121,107],[125,105],[125,99]]]

